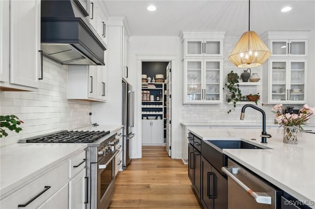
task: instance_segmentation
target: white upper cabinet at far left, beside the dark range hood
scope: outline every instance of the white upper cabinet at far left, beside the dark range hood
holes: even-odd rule
[[[1,23],[1,90],[36,90],[43,76],[40,0],[1,1]]]

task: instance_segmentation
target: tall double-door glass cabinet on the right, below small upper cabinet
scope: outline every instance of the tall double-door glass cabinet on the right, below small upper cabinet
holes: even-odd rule
[[[269,59],[268,103],[304,104],[306,76],[306,59]]]

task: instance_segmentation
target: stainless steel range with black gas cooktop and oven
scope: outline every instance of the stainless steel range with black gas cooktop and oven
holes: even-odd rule
[[[20,143],[87,143],[87,209],[105,209],[115,189],[117,133],[110,131],[57,131],[21,139]]]

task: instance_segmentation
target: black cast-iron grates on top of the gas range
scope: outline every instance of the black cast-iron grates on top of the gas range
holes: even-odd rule
[[[27,143],[91,143],[110,131],[58,131],[26,139]]]

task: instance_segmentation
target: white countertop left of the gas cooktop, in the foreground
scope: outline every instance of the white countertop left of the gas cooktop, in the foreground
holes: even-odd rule
[[[0,147],[0,195],[83,151],[87,144],[25,143]]]

